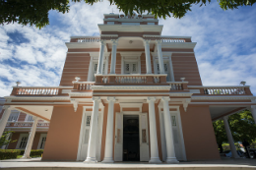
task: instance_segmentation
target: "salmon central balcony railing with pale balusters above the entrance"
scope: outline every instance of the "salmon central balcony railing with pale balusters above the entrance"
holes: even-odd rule
[[[96,75],[96,85],[167,85],[166,76],[166,74]]]

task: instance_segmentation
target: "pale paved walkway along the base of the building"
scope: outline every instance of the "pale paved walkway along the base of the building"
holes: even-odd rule
[[[40,158],[32,159],[9,159],[1,160],[0,168],[2,169],[19,169],[19,170],[82,170],[82,169],[94,169],[94,170],[106,170],[106,169],[139,169],[139,170],[256,170],[256,159],[232,159],[223,158],[222,160],[211,161],[186,161],[179,164],[149,164],[148,162],[115,162],[111,164],[106,163],[94,163],[87,164],[84,162],[76,161],[41,161]]]

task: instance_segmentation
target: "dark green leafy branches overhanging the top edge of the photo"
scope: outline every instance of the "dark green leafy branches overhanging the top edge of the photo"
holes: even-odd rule
[[[72,0],[81,2],[82,0]],[[84,0],[94,5],[101,0]],[[211,0],[108,0],[109,5],[116,5],[126,15],[136,11],[138,14],[152,13],[156,18],[166,16],[182,18],[191,11],[193,4],[206,5]],[[255,0],[218,0],[224,10],[236,9],[240,6],[252,6]],[[21,25],[43,28],[49,24],[48,11],[61,13],[69,11],[69,0],[0,0],[0,24],[17,22]]]

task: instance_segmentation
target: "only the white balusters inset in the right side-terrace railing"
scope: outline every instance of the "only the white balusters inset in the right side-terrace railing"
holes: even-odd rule
[[[204,87],[205,94],[218,95],[218,94],[245,94],[244,87]]]

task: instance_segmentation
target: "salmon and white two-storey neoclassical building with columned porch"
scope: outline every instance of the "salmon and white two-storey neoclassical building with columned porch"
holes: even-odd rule
[[[59,86],[14,86],[12,110],[49,123],[42,160],[178,163],[220,159],[212,122],[251,109],[248,85],[204,86],[190,36],[161,35],[153,15],[105,14],[99,36],[72,36]],[[63,56],[64,57],[64,56]]]

